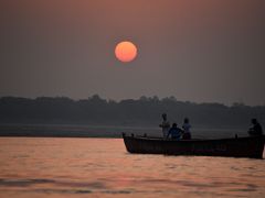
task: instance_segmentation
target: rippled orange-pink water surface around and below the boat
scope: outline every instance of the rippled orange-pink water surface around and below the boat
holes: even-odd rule
[[[0,197],[265,197],[265,161],[128,154],[121,139],[0,138]]]

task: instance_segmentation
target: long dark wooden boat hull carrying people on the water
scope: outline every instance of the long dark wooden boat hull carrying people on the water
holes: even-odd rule
[[[265,136],[247,136],[219,140],[170,140],[135,136],[123,133],[129,153],[165,155],[204,155],[263,158]]]

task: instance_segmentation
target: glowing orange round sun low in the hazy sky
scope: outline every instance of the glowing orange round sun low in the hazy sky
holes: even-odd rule
[[[116,57],[124,63],[134,61],[137,56],[137,47],[129,41],[123,41],[115,47]]]

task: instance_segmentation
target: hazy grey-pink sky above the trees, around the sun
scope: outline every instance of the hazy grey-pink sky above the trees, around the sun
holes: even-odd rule
[[[264,0],[0,1],[0,97],[265,105],[264,75]]]

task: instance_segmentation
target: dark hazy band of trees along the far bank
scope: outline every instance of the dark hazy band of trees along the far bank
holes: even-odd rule
[[[152,125],[161,122],[161,113],[170,122],[182,123],[188,117],[198,128],[245,128],[250,119],[265,123],[265,106],[243,103],[195,103],[174,97],[140,97],[121,101],[106,100],[98,95],[73,100],[66,97],[35,99],[0,98],[0,123],[68,123],[103,125]]]

